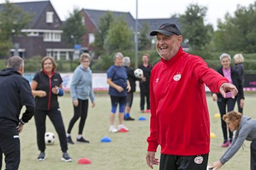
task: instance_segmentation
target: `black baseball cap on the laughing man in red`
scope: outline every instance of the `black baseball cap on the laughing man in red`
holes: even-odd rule
[[[163,23],[161,24],[158,29],[150,32],[150,36],[156,36],[157,34],[162,33],[163,35],[166,36],[171,36],[171,35],[181,35],[179,27],[175,23]]]

